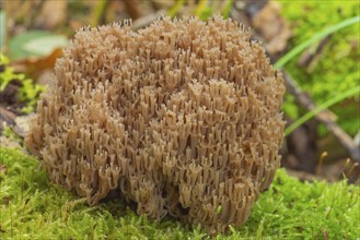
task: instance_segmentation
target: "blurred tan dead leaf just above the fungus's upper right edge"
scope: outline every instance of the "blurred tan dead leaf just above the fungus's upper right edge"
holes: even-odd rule
[[[271,1],[252,20],[253,27],[265,40],[265,48],[270,55],[283,51],[291,37],[290,25],[280,13],[280,3]]]

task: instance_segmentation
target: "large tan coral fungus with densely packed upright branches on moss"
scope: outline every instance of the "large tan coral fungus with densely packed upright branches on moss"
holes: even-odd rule
[[[234,21],[83,28],[54,79],[26,145],[90,204],[115,190],[139,214],[224,231],[279,167],[282,76]]]

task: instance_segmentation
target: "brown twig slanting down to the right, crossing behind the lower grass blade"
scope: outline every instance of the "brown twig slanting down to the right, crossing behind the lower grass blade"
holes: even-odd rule
[[[284,84],[287,92],[295,97],[295,100],[311,111],[316,108],[312,99],[305,95],[294,83],[291,76],[283,72]],[[349,152],[353,160],[360,161],[360,149],[353,143],[352,139],[333,120],[332,113],[328,110],[323,110],[315,116],[315,119],[323,122],[328,131],[339,141],[339,143]]]

